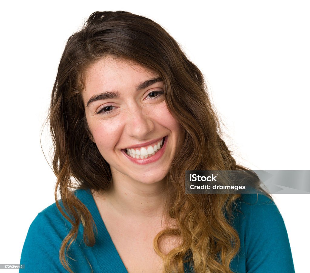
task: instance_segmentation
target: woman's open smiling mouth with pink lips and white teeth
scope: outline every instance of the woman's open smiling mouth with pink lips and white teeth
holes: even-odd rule
[[[131,161],[138,164],[148,164],[157,161],[164,153],[167,136],[143,147],[122,149]]]

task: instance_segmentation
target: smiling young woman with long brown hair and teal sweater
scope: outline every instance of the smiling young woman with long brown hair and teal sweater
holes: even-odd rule
[[[29,228],[24,271],[294,272],[268,194],[185,193],[186,170],[245,168],[201,72],[152,20],[89,17],[60,60],[50,126],[56,203]]]

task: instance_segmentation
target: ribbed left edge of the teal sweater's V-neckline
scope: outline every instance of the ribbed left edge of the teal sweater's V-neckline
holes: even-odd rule
[[[97,234],[95,235],[96,242],[95,245],[91,247],[91,251],[95,256],[100,271],[128,273],[111,239],[111,236],[104,225],[104,221],[101,218],[91,191],[89,189],[78,189],[76,190],[76,196],[84,205],[86,205],[97,227]]]

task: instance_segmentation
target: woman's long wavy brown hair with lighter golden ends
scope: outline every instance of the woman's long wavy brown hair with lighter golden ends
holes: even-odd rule
[[[90,139],[81,95],[86,68],[107,55],[158,73],[164,82],[166,105],[185,132],[184,143],[167,174],[169,216],[177,227],[164,229],[154,239],[154,249],[164,260],[164,272],[184,272],[186,259],[197,273],[232,272],[229,265],[240,240],[225,213],[240,195],[185,194],[185,171],[246,169],[236,164],[221,138],[219,120],[199,69],[159,24],[125,11],[91,14],[84,27],[69,38],[53,87],[49,120],[57,176],[55,200],[72,225],[60,248],[60,262],[72,272],[68,249],[81,222],[85,243],[95,244],[93,218],[72,189],[78,184],[79,188],[100,192],[112,184],[109,165]],[[160,241],[171,235],[180,236],[182,242],[164,254]]]

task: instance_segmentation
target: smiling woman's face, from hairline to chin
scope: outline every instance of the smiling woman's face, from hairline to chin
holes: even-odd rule
[[[113,181],[162,181],[183,130],[166,107],[160,76],[108,56],[86,70],[82,97],[92,140]]]

